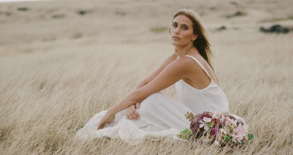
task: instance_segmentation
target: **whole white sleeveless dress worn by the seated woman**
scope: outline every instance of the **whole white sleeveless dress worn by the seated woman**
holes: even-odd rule
[[[210,77],[203,65],[193,56],[187,56],[196,61],[205,73]],[[178,56],[177,59],[180,57]],[[211,77],[210,77],[211,78]],[[163,94],[161,91],[149,95],[140,108],[136,111],[140,114],[139,120],[128,120],[125,115],[127,109],[115,114],[115,120],[100,130],[96,130],[98,123],[107,112],[101,111],[95,114],[83,128],[79,129],[75,137],[80,139],[97,138],[107,136],[120,138],[129,144],[143,142],[145,136],[152,136],[152,140],[165,137],[170,140],[181,140],[176,134],[185,128],[189,128],[189,121],[185,118],[187,111],[195,114],[204,111],[228,111],[228,100],[222,89],[211,78],[211,83],[204,89],[196,89],[183,79],[175,83],[179,101]],[[233,115],[237,119],[241,117]]]

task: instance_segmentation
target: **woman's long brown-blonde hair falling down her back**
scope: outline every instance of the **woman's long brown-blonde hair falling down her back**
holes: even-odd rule
[[[174,16],[173,16],[173,20],[178,16],[178,15],[185,15],[186,17],[188,17],[191,21],[192,21],[192,27],[193,27],[193,33],[197,34],[198,37],[197,39],[195,39],[193,41],[193,46],[199,51],[200,55],[207,61],[207,63],[210,65],[210,67],[212,68],[214,74],[214,68],[213,65],[211,63],[211,57],[214,57],[212,51],[211,51],[211,44],[208,41],[208,37],[206,34],[206,29],[204,28],[199,16],[191,9],[188,8],[183,8],[178,10]],[[172,20],[172,24],[173,24],[173,20]],[[171,26],[172,26],[171,24]],[[169,28],[169,32],[170,32]],[[175,48],[175,52],[176,48]],[[215,74],[216,76],[216,74]],[[217,76],[216,76],[217,78]],[[217,78],[218,80],[218,78]]]

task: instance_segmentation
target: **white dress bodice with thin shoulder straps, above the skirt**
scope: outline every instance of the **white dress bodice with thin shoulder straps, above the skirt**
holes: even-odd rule
[[[187,55],[186,55],[187,56]],[[210,77],[203,65],[193,56],[187,56],[197,62],[205,73]],[[180,57],[178,56],[177,59]],[[211,83],[203,89],[196,89],[180,79],[175,83],[179,102],[186,105],[196,114],[204,111],[228,111],[228,100],[222,89],[211,78]]]

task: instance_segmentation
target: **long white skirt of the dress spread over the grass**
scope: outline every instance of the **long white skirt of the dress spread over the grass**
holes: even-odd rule
[[[114,122],[103,129],[97,130],[97,126],[107,110],[95,114],[83,128],[79,129],[75,137],[89,139],[107,136],[120,138],[129,144],[139,144],[146,136],[157,138],[164,137],[169,140],[182,140],[176,136],[180,131],[189,128],[189,121],[185,113],[191,110],[179,101],[163,94],[161,91],[149,95],[140,108],[136,111],[140,114],[139,120],[127,119],[127,109],[115,114]]]

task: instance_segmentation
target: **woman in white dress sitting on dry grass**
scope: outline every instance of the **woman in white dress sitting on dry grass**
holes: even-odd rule
[[[175,52],[119,104],[92,117],[77,137],[108,136],[131,144],[141,143],[146,135],[177,139],[179,131],[189,128],[187,111],[229,110],[211,65],[210,43],[196,13],[178,10],[169,33]],[[179,102],[160,92],[174,83]]]

